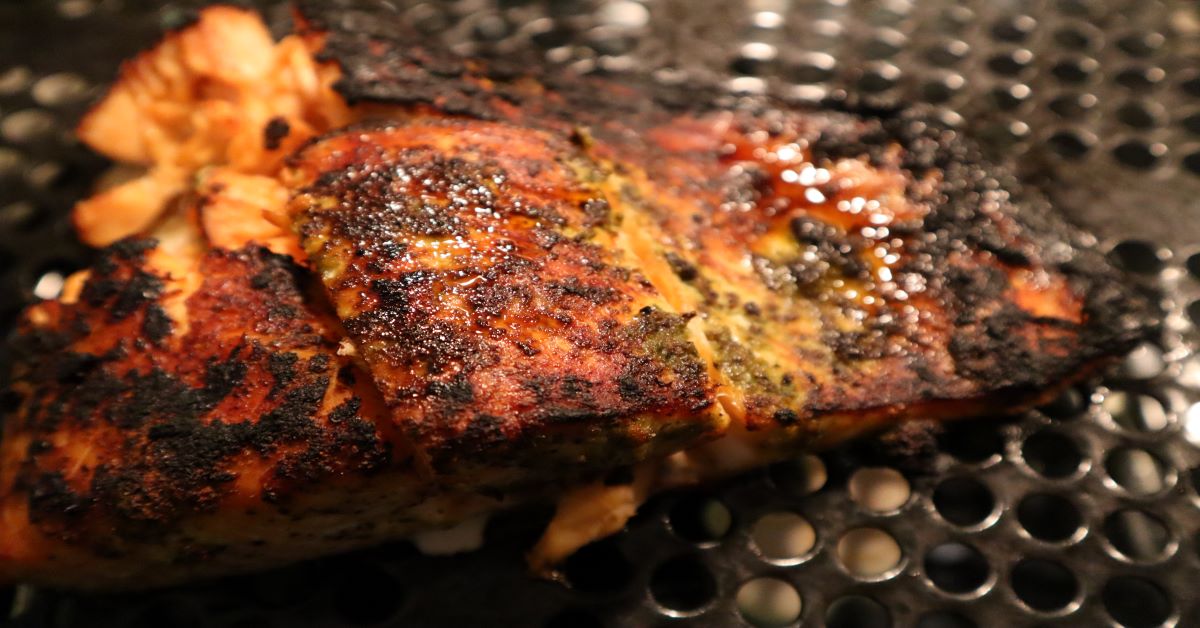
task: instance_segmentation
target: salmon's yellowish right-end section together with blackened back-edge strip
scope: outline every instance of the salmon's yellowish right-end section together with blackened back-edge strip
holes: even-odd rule
[[[300,10],[360,109],[582,137],[626,251],[696,312],[722,405],[780,443],[848,437],[856,417],[1020,407],[1153,319],[1086,232],[919,109],[614,84],[461,59],[377,2]]]

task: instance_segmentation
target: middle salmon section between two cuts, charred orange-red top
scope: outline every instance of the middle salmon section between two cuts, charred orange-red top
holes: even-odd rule
[[[305,252],[433,473],[587,478],[725,427],[676,312],[570,138],[415,120],[290,163]]]

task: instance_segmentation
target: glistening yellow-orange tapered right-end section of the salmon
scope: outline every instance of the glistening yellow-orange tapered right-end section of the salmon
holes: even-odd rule
[[[835,417],[1019,407],[1152,319],[1090,235],[919,112],[760,103],[638,137],[593,152],[626,166],[751,431],[839,441]]]

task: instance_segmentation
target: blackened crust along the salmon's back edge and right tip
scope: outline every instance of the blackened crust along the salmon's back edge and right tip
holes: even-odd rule
[[[688,90],[670,90],[637,80],[626,86],[596,84],[560,70],[544,71],[538,62],[514,64],[510,59],[463,64],[443,46],[406,31],[409,26],[386,10],[370,2],[350,2],[350,10],[364,18],[370,16],[373,26],[350,32],[341,29],[336,17],[319,4],[301,2],[301,13],[312,19],[317,30],[328,34],[325,58],[346,70],[338,89],[352,102],[383,102],[478,120],[515,115],[516,121],[530,128],[551,130],[571,150],[594,152],[607,148],[632,159],[635,167],[653,167],[662,154],[652,143],[630,136],[668,126],[679,112],[703,116],[707,112],[732,109],[742,116],[748,131],[768,133],[779,133],[787,120],[799,116],[806,119],[804,126],[811,131],[804,139],[815,162],[862,159],[876,168],[902,171],[908,181],[906,195],[928,205],[929,213],[918,222],[892,226],[892,232],[905,239],[907,253],[894,271],[919,279],[928,286],[934,305],[948,317],[953,337],[944,340],[953,345],[953,351],[950,347],[947,351],[955,366],[952,372],[934,372],[924,359],[923,352],[930,347],[924,345],[926,339],[920,330],[906,328],[911,323],[900,323],[896,316],[875,311],[869,312],[865,329],[823,336],[833,352],[833,367],[839,372],[852,372],[856,364],[869,360],[905,357],[914,365],[912,382],[905,384],[908,394],[977,394],[990,389],[992,382],[1050,383],[1069,365],[1121,353],[1148,333],[1146,322],[1153,318],[1152,299],[1129,295],[1128,291],[1118,297],[1105,288],[1128,282],[1082,241],[1079,237],[1082,232],[1051,211],[1036,191],[1024,189],[1003,168],[989,163],[974,144],[928,110],[863,109],[854,103],[833,103],[844,112],[796,112],[770,98],[733,100],[715,90],[692,90],[692,85]],[[401,35],[391,36],[389,31]],[[412,46],[412,42],[420,43]],[[540,89],[522,89],[529,84]],[[595,97],[622,90],[626,97]],[[545,98],[545,91],[553,92],[556,98]],[[505,113],[512,104],[518,114]],[[635,133],[623,136],[613,131],[614,125],[604,124],[612,120],[620,120],[617,127]],[[586,137],[578,133],[581,127],[588,128]],[[703,181],[684,185],[700,191],[712,189]],[[725,199],[754,201],[762,185],[763,173],[749,168],[737,185],[724,190],[730,195]],[[809,255],[767,261],[763,270],[769,273],[763,280],[773,282],[773,289],[798,288],[806,298],[827,299],[830,297],[827,279],[868,275],[869,268],[862,259],[870,243],[820,221],[799,220],[792,227],[797,245],[809,249]],[[1063,244],[1068,245],[1066,251]],[[990,259],[955,262],[962,251],[988,255]],[[677,276],[710,293],[703,276],[690,279],[692,271],[685,264],[672,263],[670,257],[667,262]],[[1010,280],[1006,271],[1015,269],[1044,269],[1064,277],[1084,301],[1082,323],[1051,331],[1046,322],[1027,313],[1010,309],[997,312],[1009,299]],[[706,305],[714,303],[709,299]],[[847,309],[851,304],[835,301],[822,306],[821,316]],[[827,323],[827,329],[839,327],[833,321]],[[1020,334],[1006,339],[995,335],[997,329]],[[1038,337],[1049,337],[1048,334],[1072,337],[1052,342],[1069,351],[1049,355],[1031,345]],[[976,337],[959,337],[972,335]],[[734,361],[739,359],[734,357]],[[1037,361],[1019,361],[1028,359]],[[634,387],[626,389],[632,391]],[[824,401],[818,403],[824,405]]]

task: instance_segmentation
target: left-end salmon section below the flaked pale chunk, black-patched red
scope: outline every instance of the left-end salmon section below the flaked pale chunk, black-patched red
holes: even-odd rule
[[[392,507],[418,500],[407,445],[289,258],[163,255],[121,241],[77,294],[25,313],[0,459],[4,573],[72,560],[115,561],[97,582],[162,563],[236,570],[244,558],[222,556],[239,546],[294,544],[259,550],[268,563],[306,554],[314,495],[388,476]],[[360,507],[322,516],[361,524]],[[271,531],[280,519],[290,528]]]

